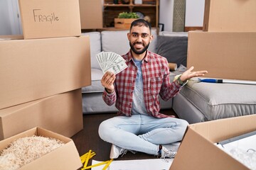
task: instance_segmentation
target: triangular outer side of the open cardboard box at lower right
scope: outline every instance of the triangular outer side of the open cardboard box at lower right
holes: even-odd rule
[[[207,167],[207,168],[206,168]],[[188,128],[170,170],[242,170],[247,167]]]

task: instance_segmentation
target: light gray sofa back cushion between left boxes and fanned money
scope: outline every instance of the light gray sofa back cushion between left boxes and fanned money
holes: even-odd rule
[[[100,69],[100,64],[96,59],[97,53],[101,52],[100,32],[82,33],[82,35],[89,35],[90,37],[91,67]]]

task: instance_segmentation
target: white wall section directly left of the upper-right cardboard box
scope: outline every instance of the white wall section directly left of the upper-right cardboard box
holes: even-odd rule
[[[203,26],[204,6],[205,6],[205,0],[186,0],[186,14],[185,14],[186,27],[191,27],[191,26],[202,27]]]

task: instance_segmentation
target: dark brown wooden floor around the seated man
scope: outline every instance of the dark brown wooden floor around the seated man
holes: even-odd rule
[[[172,109],[161,110],[161,113],[166,115],[176,115]],[[75,142],[80,156],[85,154],[90,149],[96,153],[95,159],[97,161],[106,161],[110,159],[111,144],[104,142],[98,135],[98,127],[103,120],[112,118],[116,113],[97,113],[92,115],[83,115],[83,130],[71,137]],[[177,115],[176,115],[177,116]],[[156,156],[137,152],[132,154],[127,152],[123,157],[119,157],[116,160],[130,160],[130,159],[154,159]],[[88,165],[91,164],[91,159]]]

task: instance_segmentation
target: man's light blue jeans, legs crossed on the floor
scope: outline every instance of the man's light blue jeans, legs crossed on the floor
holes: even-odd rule
[[[118,147],[156,155],[159,145],[180,141],[187,125],[186,120],[178,118],[117,116],[100,124],[99,135],[102,140]]]

